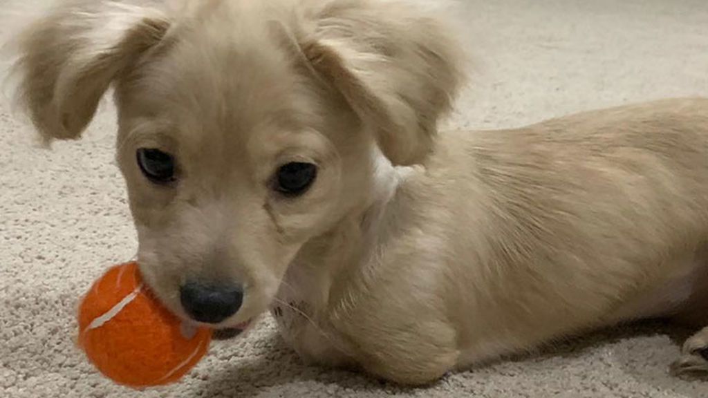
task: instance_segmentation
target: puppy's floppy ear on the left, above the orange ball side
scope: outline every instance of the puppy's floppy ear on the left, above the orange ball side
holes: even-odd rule
[[[169,21],[156,8],[73,0],[18,40],[18,101],[45,143],[76,139],[111,82],[160,42]]]

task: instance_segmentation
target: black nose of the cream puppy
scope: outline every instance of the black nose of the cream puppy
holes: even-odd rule
[[[244,290],[240,286],[189,282],[180,288],[180,300],[195,321],[218,324],[236,314],[244,301]]]

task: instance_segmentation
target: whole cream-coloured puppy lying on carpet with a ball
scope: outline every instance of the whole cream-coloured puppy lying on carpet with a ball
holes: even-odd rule
[[[644,317],[708,325],[708,100],[438,132],[433,13],[384,0],[74,0],[17,71],[42,137],[115,88],[149,285],[306,359],[420,384]],[[708,329],[678,373],[708,371]]]

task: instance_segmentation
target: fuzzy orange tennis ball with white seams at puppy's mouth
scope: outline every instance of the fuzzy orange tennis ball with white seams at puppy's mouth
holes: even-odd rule
[[[204,356],[211,338],[210,329],[186,326],[150,294],[137,263],[110,268],[79,306],[79,346],[121,385],[179,380]]]

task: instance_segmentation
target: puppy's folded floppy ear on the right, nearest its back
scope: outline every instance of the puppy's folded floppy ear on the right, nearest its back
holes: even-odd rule
[[[375,132],[393,164],[423,161],[462,84],[459,48],[436,13],[401,0],[319,1],[302,51]]]

